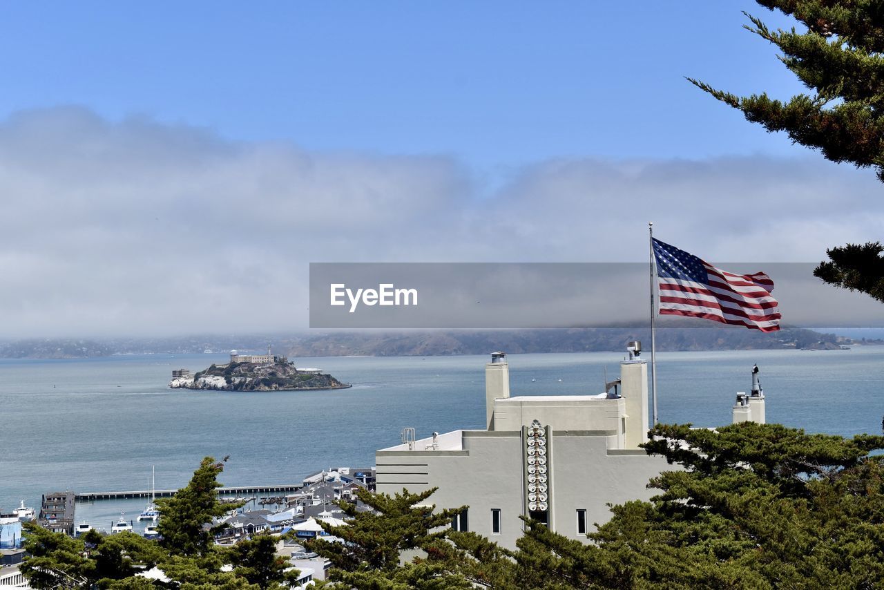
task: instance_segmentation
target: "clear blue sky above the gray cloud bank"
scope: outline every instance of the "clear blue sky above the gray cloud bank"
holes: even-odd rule
[[[684,76],[800,90],[751,2],[6,3],[0,116],[87,106],[305,149],[551,157],[793,154]]]

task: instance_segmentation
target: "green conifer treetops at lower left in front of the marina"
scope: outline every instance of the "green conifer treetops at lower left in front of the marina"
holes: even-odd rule
[[[226,459],[225,459],[226,460]],[[214,544],[210,525],[214,517],[240,504],[221,504],[217,474],[224,468],[211,457],[202,460],[186,487],[169,499],[157,500],[163,534],[160,542],[134,533],[104,535],[90,531],[72,539],[26,523],[25,548],[29,556],[22,572],[34,588],[109,588],[142,590],[273,590],[297,578],[286,571],[286,560],[276,556],[269,535],[245,540],[233,548]],[[169,582],[136,574],[158,565]],[[225,567],[225,566],[232,566]]]

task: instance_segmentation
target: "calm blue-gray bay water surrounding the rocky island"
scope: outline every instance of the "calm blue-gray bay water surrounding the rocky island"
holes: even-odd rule
[[[620,353],[510,355],[512,395],[597,394]],[[485,356],[326,357],[318,366],[352,389],[228,393],[166,387],[173,368],[197,371],[225,355],[0,360],[0,509],[41,494],[149,489],[187,482],[203,456],[230,461],[226,485],[295,483],[329,466],[369,466],[374,451],[417,436],[484,425]],[[761,368],[768,422],[809,432],[879,433],[884,347],[658,355],[662,422],[723,425],[737,391]],[[536,381],[532,381],[536,379]],[[561,382],[559,381],[561,379]],[[110,528],[143,500],[78,505]],[[106,521],[106,522],[105,522]]]

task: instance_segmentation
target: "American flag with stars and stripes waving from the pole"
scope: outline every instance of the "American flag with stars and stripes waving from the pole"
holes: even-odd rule
[[[657,260],[660,315],[712,319],[762,332],[780,329],[780,309],[764,272],[734,274],[652,240]]]

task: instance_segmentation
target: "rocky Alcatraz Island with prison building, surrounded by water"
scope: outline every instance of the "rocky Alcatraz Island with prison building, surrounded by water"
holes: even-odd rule
[[[309,389],[345,389],[341,383],[320,369],[298,369],[287,356],[274,356],[271,347],[266,355],[240,355],[230,351],[230,363],[212,364],[191,375],[187,369],[171,372],[169,387],[215,389],[217,391],[295,391]]]

